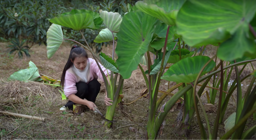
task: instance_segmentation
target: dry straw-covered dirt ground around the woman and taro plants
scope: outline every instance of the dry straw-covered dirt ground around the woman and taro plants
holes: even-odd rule
[[[66,101],[61,100],[61,95],[58,88],[49,85],[43,85],[38,82],[20,82],[9,81],[8,77],[20,69],[26,69],[28,62],[32,61],[39,69],[39,73],[48,75],[54,79],[60,79],[64,65],[68,59],[71,46],[64,43],[55,53],[55,55],[48,59],[46,55],[45,45],[35,45],[30,49],[30,58],[26,56],[23,59],[18,59],[17,55],[9,55],[6,52],[7,43],[0,43],[0,110],[14,112],[19,114],[26,114],[32,116],[45,117],[45,121],[30,120],[25,118],[15,118],[8,115],[0,114],[0,138],[1,140],[49,140],[49,139],[85,139],[85,140],[144,140],[147,122],[148,99],[141,98],[130,105],[118,105],[116,108],[114,120],[111,129],[102,125],[102,119],[99,114],[95,114],[91,110],[86,110],[81,115],[74,115],[72,112],[61,112],[59,108],[63,106]],[[112,46],[111,46],[112,47]],[[112,48],[104,47],[102,52],[111,55]],[[205,54],[209,57],[214,56],[216,47],[206,47]],[[90,55],[91,57],[91,55]],[[256,68],[255,63],[253,64]],[[143,67],[146,69],[146,67]],[[241,66],[239,67],[242,68]],[[243,75],[252,72],[252,67],[249,65],[244,70]],[[241,76],[241,77],[242,77]],[[231,79],[234,80],[232,75]],[[248,81],[242,84],[243,93],[246,91]],[[102,113],[106,112],[106,105],[104,104],[104,83],[100,93],[96,99],[96,105]],[[170,82],[170,87],[175,83]],[[146,88],[142,73],[140,69],[133,71],[130,79],[124,80],[124,103],[130,103],[140,97],[140,91]],[[162,80],[160,90],[166,91],[168,89],[168,81]],[[209,89],[206,88],[209,92]],[[173,93],[176,93],[175,90]],[[236,91],[233,93],[236,97]],[[158,98],[162,93],[158,93]],[[217,95],[218,97],[218,95]],[[216,97],[217,107],[218,98]],[[170,99],[167,97],[165,101]],[[201,97],[202,102],[207,103],[206,94]],[[161,104],[162,105],[162,104]],[[200,114],[201,108],[200,109]],[[234,101],[230,98],[228,108],[224,120],[230,114],[235,112]],[[196,115],[192,121],[188,137],[179,136],[176,134],[175,120],[179,110],[174,109],[166,116],[166,124],[164,126],[163,134],[157,140],[200,140],[200,130],[197,124]],[[213,128],[216,113],[208,113],[211,128]],[[205,123],[204,117],[201,117]],[[247,121],[246,129],[255,125],[256,121],[250,117]],[[224,124],[220,124],[218,136],[221,137],[225,133]],[[131,131],[129,127],[136,128],[137,131]],[[207,129],[206,129],[207,132]],[[256,136],[252,137],[256,140]]]

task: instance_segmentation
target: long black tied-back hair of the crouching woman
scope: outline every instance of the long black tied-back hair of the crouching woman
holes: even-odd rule
[[[68,61],[67,61],[66,65],[63,69],[61,80],[60,80],[60,85],[62,87],[64,87],[64,80],[65,80],[66,71],[73,65],[72,61],[74,62],[74,59],[76,57],[86,57],[88,59],[88,55],[87,55],[85,49],[83,49],[81,47],[78,47],[77,45],[74,45],[71,48],[71,51],[70,51],[70,54],[69,54],[69,57],[68,57]]]

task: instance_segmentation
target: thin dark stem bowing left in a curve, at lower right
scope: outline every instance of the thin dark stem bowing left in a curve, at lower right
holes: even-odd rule
[[[215,56],[214,56],[215,57]],[[212,59],[214,59],[214,57],[212,57],[205,65],[204,67],[202,67],[202,69],[200,70],[200,72],[198,73],[197,77],[196,77],[196,80],[195,80],[195,83],[194,83],[194,90],[193,90],[193,99],[194,99],[194,107],[195,107],[195,111],[196,111],[196,117],[198,119],[198,123],[199,123],[199,127],[200,127],[200,132],[201,132],[201,138],[202,140],[204,139],[207,139],[207,136],[206,136],[206,133],[205,133],[205,130],[204,130],[204,126],[202,124],[202,121],[201,121],[201,118],[200,118],[200,114],[199,114],[199,110],[197,108],[197,102],[196,102],[196,86],[197,86],[197,83],[198,83],[198,79],[201,75],[201,73],[204,71],[204,68],[212,61]],[[210,130],[208,130],[210,131]]]

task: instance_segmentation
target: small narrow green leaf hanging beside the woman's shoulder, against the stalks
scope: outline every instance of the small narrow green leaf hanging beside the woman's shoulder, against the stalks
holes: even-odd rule
[[[105,55],[105,53],[100,53],[100,62],[106,69],[109,69],[110,71],[113,71],[115,73],[119,73],[118,69],[116,69],[116,62],[107,55]]]

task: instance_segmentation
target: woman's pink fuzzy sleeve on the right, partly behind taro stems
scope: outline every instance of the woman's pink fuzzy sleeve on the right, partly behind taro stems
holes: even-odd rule
[[[110,75],[111,71],[109,69],[107,71],[107,69],[103,65],[101,65],[100,63],[99,63],[99,65],[100,65],[102,71],[104,72],[104,74],[106,76]],[[98,78],[100,78],[102,81],[104,81],[104,79],[102,77],[102,74],[100,72],[100,69],[99,69],[99,67],[98,67],[98,65],[97,65],[97,63],[94,59],[92,59],[92,65],[91,66],[92,66],[92,73],[96,74],[98,76]]]

